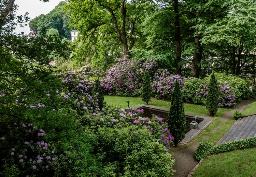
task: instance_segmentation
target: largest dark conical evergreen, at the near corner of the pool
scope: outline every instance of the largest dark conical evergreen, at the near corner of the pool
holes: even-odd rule
[[[186,117],[178,80],[176,80],[172,92],[171,107],[168,114],[168,128],[170,134],[174,137],[174,145],[177,146],[185,138],[186,131]]]

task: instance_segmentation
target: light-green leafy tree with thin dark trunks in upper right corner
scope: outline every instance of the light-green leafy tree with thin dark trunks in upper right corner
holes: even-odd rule
[[[220,7],[223,15],[207,25],[202,42],[222,46],[231,59],[232,74],[239,75],[255,58],[256,2],[226,0]]]

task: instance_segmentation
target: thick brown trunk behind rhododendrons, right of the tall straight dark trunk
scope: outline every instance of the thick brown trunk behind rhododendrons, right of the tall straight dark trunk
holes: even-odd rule
[[[195,51],[194,51],[194,55],[193,55],[193,59],[192,59],[192,66],[191,66],[191,73],[192,73],[192,77],[199,77],[200,73],[201,73],[201,66],[198,66],[198,64],[200,63],[201,59],[202,59],[202,49],[200,47],[200,35],[198,34],[195,37]]]

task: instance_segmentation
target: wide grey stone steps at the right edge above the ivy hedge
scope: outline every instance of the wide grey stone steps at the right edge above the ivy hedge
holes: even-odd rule
[[[256,114],[238,119],[215,145],[256,137]]]

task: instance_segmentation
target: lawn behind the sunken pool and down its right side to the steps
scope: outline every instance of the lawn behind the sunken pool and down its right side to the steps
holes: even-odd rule
[[[130,101],[130,107],[138,106],[140,104],[145,104],[142,101],[142,98],[134,98],[134,97],[122,97],[122,96],[104,96],[104,101],[109,105],[117,105],[122,108],[127,107],[126,100]],[[151,106],[161,107],[161,108],[170,108],[171,102],[152,99],[152,102],[149,103]],[[184,110],[186,113],[196,114],[198,116],[208,116],[207,109],[203,105],[195,105],[184,103]],[[214,117],[214,121],[203,130],[196,138],[194,138],[188,145],[195,143],[196,141],[209,141],[213,144],[216,144],[229,130],[229,128],[236,122],[233,119],[227,119],[224,121],[221,120],[221,116],[226,111],[231,109],[219,108],[216,117]]]

